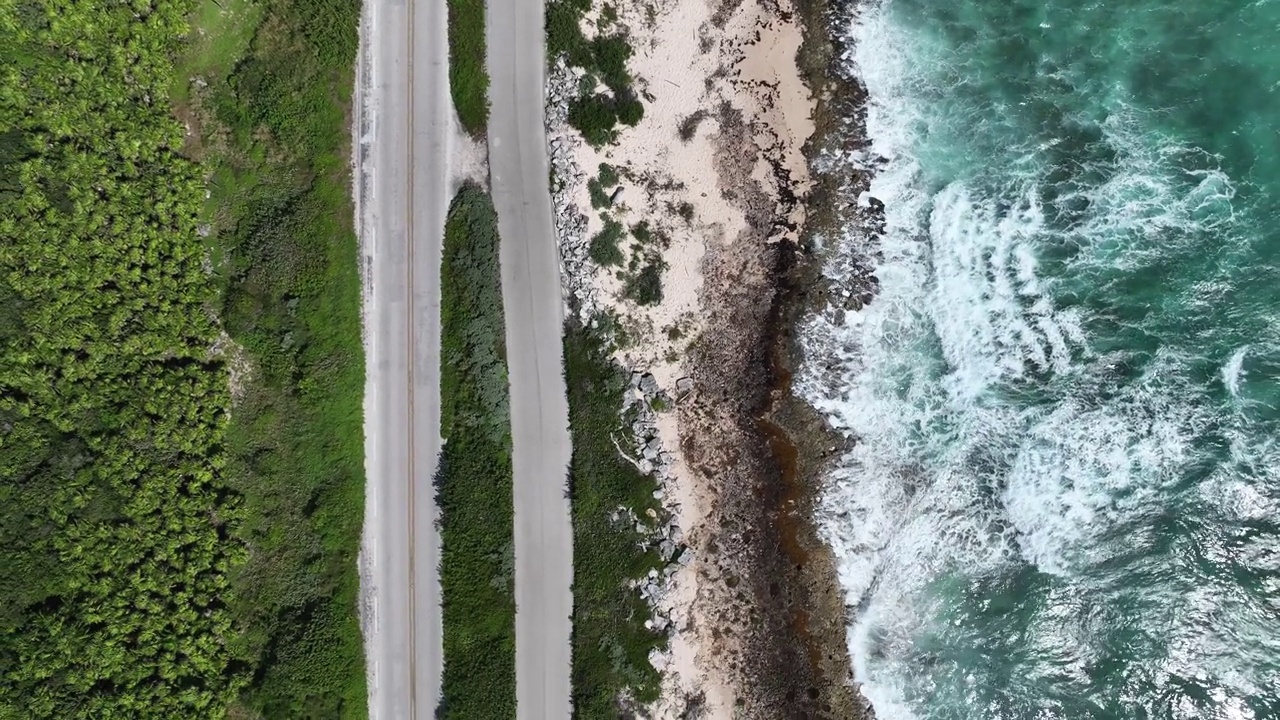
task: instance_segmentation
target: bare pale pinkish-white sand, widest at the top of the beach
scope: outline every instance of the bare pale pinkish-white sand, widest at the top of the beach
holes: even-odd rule
[[[785,17],[794,15],[788,0],[778,5]],[[628,368],[652,372],[660,387],[675,393],[676,380],[690,374],[684,366],[687,345],[704,331],[701,290],[707,249],[724,249],[750,236],[744,231],[748,210],[753,209],[741,206],[737,199],[744,193],[737,191],[754,182],[777,201],[773,164],[787,170],[790,178],[783,182],[795,195],[803,196],[809,190],[801,149],[813,123],[809,91],[795,64],[801,42],[795,22],[773,17],[755,0],[745,0],[730,13],[722,28],[713,24],[710,0],[664,0],[654,4],[654,9],[653,24],[643,5],[620,8],[618,19],[628,27],[636,50],[628,69],[637,88],[653,99],[645,97],[644,119],[635,128],[622,128],[618,142],[599,151],[577,143],[573,156],[588,177],[595,176],[600,163],[609,163],[623,176],[622,199],[611,210],[616,219],[628,227],[648,220],[654,231],[671,237],[663,252],[667,269],[659,305],[641,307],[622,299],[616,269],[596,268],[591,282],[602,304],[620,315],[632,338],[618,352],[618,360]],[[591,27],[584,29],[594,32]],[[721,111],[726,106],[731,109],[728,114]],[[682,141],[681,123],[699,110],[707,117],[694,136]],[[724,167],[717,163],[727,145],[724,133],[736,129],[722,128],[719,118],[732,117],[732,111],[740,113],[759,152],[750,178],[722,177],[717,170]],[[576,183],[571,197],[589,218],[586,237],[593,236],[603,222],[599,211],[591,210],[586,183]],[[689,223],[675,211],[685,202],[694,209]],[[759,209],[754,210],[759,214]],[[785,215],[791,227],[800,227],[804,220],[801,204],[780,206],[774,214]],[[794,234],[780,231],[771,240],[794,241]],[[707,527],[713,493],[699,487],[694,474],[686,471],[677,413],[659,414],[658,433],[664,450],[675,456],[664,502],[685,537],[696,537]],[[650,708],[654,717],[680,717],[686,698],[696,696],[703,697],[704,717],[732,716],[735,688],[707,637],[717,609],[699,592],[700,565],[695,560],[676,573],[662,601],[675,630],[663,693]]]

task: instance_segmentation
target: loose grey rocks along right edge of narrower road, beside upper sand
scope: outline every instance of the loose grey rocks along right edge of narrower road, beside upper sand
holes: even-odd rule
[[[573,150],[582,142],[568,124],[568,102],[577,96],[579,76],[559,58],[547,78],[547,154],[552,165],[552,202],[556,215],[556,237],[561,255],[561,286],[566,299],[577,305],[582,322],[590,322],[599,301],[591,286],[594,265],[588,258],[586,215],[573,202],[573,196],[586,182],[573,160]]]

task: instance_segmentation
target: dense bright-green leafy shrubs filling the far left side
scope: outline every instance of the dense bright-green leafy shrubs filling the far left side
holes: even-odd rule
[[[230,397],[179,156],[184,3],[0,0],[0,717],[220,717]]]

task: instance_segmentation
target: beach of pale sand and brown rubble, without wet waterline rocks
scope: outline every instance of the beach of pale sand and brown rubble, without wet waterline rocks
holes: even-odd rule
[[[643,120],[599,149],[563,122],[549,131],[553,155],[567,149],[571,168],[559,200],[566,292],[584,319],[613,314],[628,340],[616,359],[652,373],[675,398],[657,416],[666,454],[657,471],[694,561],[657,602],[671,621],[669,648],[653,657],[663,692],[648,714],[822,715],[840,692],[820,687],[806,633],[796,630],[806,594],[788,582],[795,573],[768,487],[778,461],[758,427],[773,384],[778,249],[799,241],[812,187],[804,145],[814,101],[796,67],[803,31],[787,0],[667,0],[620,8],[609,22],[635,50],[627,69]],[[598,23],[588,18],[588,37]],[[561,87],[577,82],[564,68],[554,76]],[[602,163],[621,188],[604,214],[588,187]],[[636,304],[626,273],[585,258],[605,214],[660,236],[660,302]],[[641,251],[630,247],[627,259]],[[842,642],[829,644],[841,652]]]

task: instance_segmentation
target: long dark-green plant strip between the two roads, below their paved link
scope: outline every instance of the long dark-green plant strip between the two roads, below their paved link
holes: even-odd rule
[[[440,332],[444,687],[436,715],[500,720],[516,715],[511,413],[498,215],[476,186],[458,192],[445,220]]]

